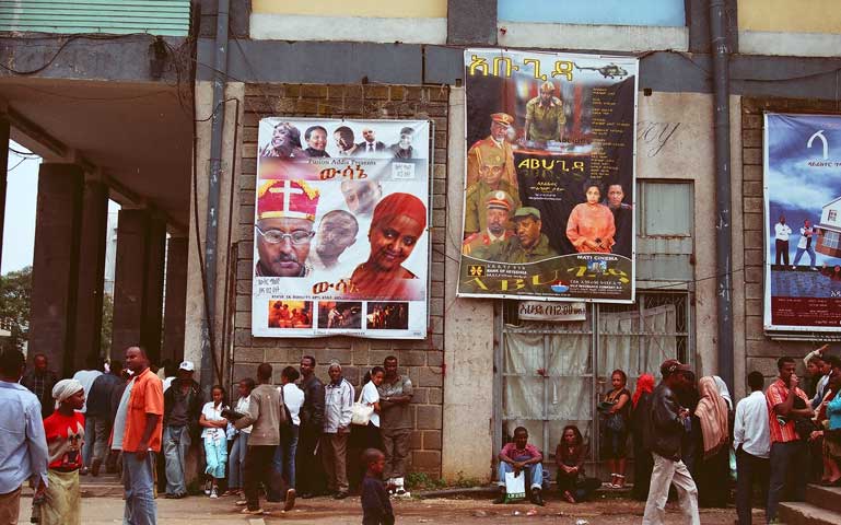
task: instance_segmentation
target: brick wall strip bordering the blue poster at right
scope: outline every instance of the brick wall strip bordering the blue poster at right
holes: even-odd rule
[[[758,370],[766,377],[776,375],[776,359],[791,355],[797,360],[803,373],[801,359],[816,348],[809,341],[772,340],[762,327],[764,285],[764,218],[762,140],[763,112],[774,113],[839,113],[834,101],[804,101],[789,98],[743,98],[741,101],[741,163],[744,247],[745,247],[745,353],[747,373]],[[775,222],[775,218],[773,218]],[[794,253],[791,254],[792,257]]]

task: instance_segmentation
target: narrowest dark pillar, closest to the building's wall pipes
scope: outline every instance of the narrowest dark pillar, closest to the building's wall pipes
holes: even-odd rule
[[[184,359],[184,324],[187,319],[187,237],[170,237],[166,248],[164,346],[161,361]]]

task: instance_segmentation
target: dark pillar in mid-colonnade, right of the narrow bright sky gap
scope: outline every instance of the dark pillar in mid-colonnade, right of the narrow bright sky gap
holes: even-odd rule
[[[165,236],[164,221],[149,210],[120,210],[110,350],[115,359],[141,345],[153,363],[160,361]]]

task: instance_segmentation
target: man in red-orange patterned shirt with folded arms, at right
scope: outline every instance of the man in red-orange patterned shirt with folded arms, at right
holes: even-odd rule
[[[785,481],[790,474],[794,476],[793,487],[789,489],[796,501],[803,501],[806,489],[806,444],[801,441],[795,430],[795,419],[813,417],[813,410],[806,393],[797,386],[799,377],[794,373],[794,359],[780,358],[776,370],[780,377],[768,387],[768,422],[771,429],[771,482],[768,488],[766,517],[771,523],[776,517],[776,506],[784,494]],[[803,400],[801,404],[797,398]],[[798,408],[795,408],[795,405]]]

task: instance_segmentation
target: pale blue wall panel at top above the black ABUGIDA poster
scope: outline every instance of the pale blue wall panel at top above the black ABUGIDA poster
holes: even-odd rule
[[[499,0],[499,19],[589,25],[686,25],[684,0]]]

